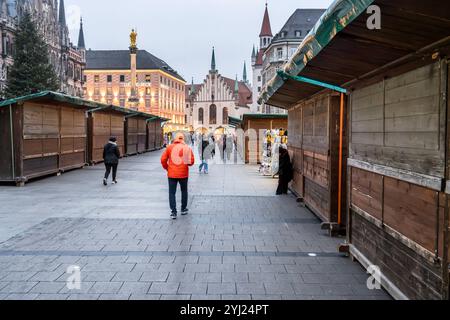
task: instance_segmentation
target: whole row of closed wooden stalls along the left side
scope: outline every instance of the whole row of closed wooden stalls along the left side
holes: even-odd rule
[[[117,138],[122,156],[163,147],[164,118],[55,92],[0,102],[0,182],[30,179],[103,161]]]

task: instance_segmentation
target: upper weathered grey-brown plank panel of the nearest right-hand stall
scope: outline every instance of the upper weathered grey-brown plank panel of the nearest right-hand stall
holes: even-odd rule
[[[350,157],[444,177],[439,64],[352,93]]]

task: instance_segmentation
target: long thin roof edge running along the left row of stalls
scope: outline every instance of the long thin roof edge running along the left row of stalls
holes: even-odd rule
[[[6,107],[9,105],[13,105],[13,104],[17,104],[20,102],[24,102],[24,101],[30,101],[30,100],[40,100],[40,101],[47,101],[47,102],[58,101],[58,102],[62,102],[62,103],[68,103],[68,104],[76,105],[76,106],[80,106],[80,107],[87,107],[88,112],[114,110],[117,112],[127,114],[129,116],[142,116],[145,118],[160,119],[162,121],[170,120],[170,119],[162,118],[159,116],[155,116],[150,113],[134,111],[134,110],[130,110],[130,109],[114,106],[114,105],[106,105],[103,103],[84,100],[79,97],[73,97],[73,96],[69,96],[69,95],[66,95],[63,93],[58,93],[58,92],[53,92],[53,91],[42,91],[39,93],[34,93],[34,94],[22,96],[22,97],[17,97],[14,99],[4,100],[4,101],[0,102],[0,108]]]

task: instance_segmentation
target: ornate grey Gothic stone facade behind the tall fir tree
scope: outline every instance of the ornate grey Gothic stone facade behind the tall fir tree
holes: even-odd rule
[[[64,0],[0,0],[0,87],[4,88],[11,68],[14,31],[20,17],[29,12],[49,50],[49,60],[60,81],[60,91],[82,96],[85,43],[82,22],[78,46],[69,39]]]

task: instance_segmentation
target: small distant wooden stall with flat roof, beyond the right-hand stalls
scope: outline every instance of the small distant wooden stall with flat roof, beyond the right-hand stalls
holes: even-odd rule
[[[241,128],[245,132],[245,163],[262,162],[265,131],[287,130],[287,126],[287,114],[244,114]]]

